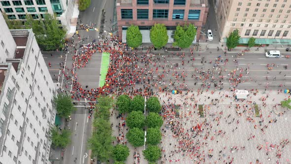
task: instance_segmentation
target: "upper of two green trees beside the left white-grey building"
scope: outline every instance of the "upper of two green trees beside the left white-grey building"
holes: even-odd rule
[[[54,102],[56,104],[57,113],[60,117],[68,118],[72,111],[75,110],[72,99],[69,95],[63,93],[58,94],[58,96],[54,98]]]

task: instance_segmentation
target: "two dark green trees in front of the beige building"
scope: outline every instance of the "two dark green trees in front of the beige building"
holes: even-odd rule
[[[238,46],[240,41],[239,30],[236,29],[228,37],[226,37],[226,46],[229,50]],[[255,38],[251,37],[248,41],[249,48],[255,46]]]

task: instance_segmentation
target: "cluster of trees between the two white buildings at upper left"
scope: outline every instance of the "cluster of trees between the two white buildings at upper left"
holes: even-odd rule
[[[32,29],[41,50],[56,50],[64,46],[66,30],[59,25],[55,15],[46,13],[43,19],[34,19],[30,14],[26,14],[25,22],[9,20],[5,13],[3,17],[9,29]]]

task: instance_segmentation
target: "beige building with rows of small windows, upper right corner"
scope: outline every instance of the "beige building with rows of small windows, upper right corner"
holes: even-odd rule
[[[291,0],[215,0],[220,39],[235,29],[241,43],[291,44]]]

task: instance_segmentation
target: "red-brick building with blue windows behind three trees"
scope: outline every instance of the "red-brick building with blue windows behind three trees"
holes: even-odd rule
[[[126,42],[126,29],[133,24],[139,26],[143,42],[150,42],[150,28],[162,23],[168,30],[168,42],[173,42],[176,26],[192,23],[197,27],[199,40],[208,9],[208,0],[117,0],[118,35]]]

